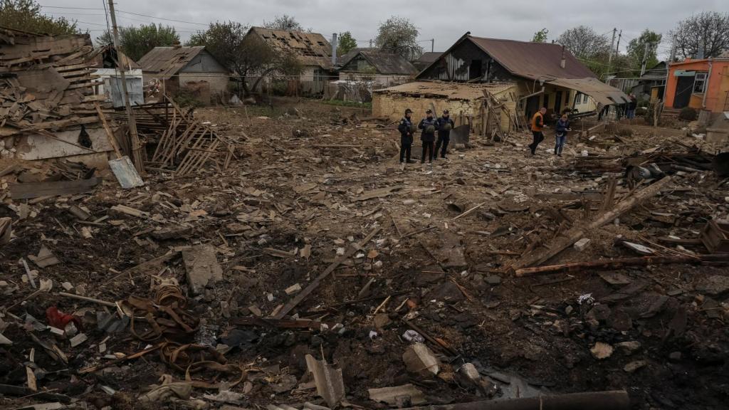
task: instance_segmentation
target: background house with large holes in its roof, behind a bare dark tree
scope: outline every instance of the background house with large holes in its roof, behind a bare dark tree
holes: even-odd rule
[[[303,67],[295,84],[297,92],[320,95],[327,82],[335,77],[332,45],[319,33],[252,27],[246,36],[256,36],[273,50],[297,56]]]

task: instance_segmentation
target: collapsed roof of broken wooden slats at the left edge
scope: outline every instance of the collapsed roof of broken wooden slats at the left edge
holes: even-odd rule
[[[0,135],[98,123],[90,36],[0,29]],[[45,134],[41,134],[45,135]]]

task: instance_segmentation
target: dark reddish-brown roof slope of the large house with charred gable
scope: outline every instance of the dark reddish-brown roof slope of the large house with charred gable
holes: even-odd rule
[[[550,43],[519,42],[468,36],[481,50],[491,55],[505,69],[519,77],[539,80],[544,77],[595,77],[572,53],[564,50],[565,66],[560,66],[562,46]]]

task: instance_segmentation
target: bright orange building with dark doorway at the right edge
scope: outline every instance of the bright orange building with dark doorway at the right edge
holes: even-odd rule
[[[729,58],[671,63],[666,81],[666,107],[729,111]]]

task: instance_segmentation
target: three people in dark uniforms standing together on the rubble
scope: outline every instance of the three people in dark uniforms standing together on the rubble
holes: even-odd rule
[[[420,163],[425,163],[426,155],[428,155],[428,162],[432,163],[434,159],[438,158],[439,150],[440,158],[446,158],[448,143],[451,142],[451,130],[455,125],[451,120],[451,115],[448,109],[443,110],[443,115],[438,118],[433,117],[432,109],[428,109],[425,115],[426,117],[420,120],[416,128],[415,123],[413,123],[413,110],[405,109],[405,117],[402,117],[397,126],[397,130],[400,131],[400,163],[415,162],[410,160],[410,153],[413,148],[413,134],[417,130],[421,130],[420,140],[423,143]],[[435,138],[436,132],[438,134],[437,141]]]

